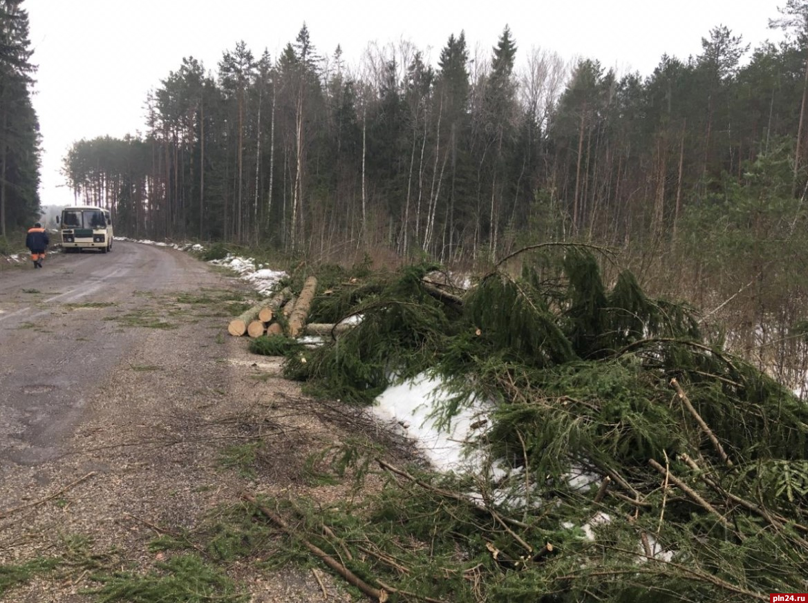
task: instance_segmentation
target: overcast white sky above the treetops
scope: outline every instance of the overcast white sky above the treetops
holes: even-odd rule
[[[663,53],[686,59],[701,38],[726,25],[755,48],[781,40],[768,29],[785,0],[25,0],[34,107],[42,134],[44,205],[72,203],[59,171],[76,140],[145,129],[146,94],[196,57],[214,73],[225,50],[244,40],[274,59],[309,27],[318,52],[337,44],[356,65],[368,43],[410,40],[436,60],[448,36],[465,30],[472,53],[492,48],[505,25],[521,52],[597,59],[619,73],[650,74]],[[517,62],[519,61],[517,54]]]

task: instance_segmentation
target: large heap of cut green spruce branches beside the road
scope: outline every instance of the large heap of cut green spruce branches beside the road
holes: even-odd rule
[[[385,488],[364,509],[318,509],[362,559],[357,575],[494,603],[802,592],[806,405],[703,332],[695,308],[646,295],[629,272],[605,278],[591,249],[532,252],[519,276],[495,269],[469,291],[407,266],[328,283],[312,304],[314,324],[362,320],[287,355],[308,392],[369,404],[428,374],[452,393],[435,409],[445,421],[475,400],[493,407],[473,442],[478,473],[380,463]],[[344,447],[359,465],[360,448]]]

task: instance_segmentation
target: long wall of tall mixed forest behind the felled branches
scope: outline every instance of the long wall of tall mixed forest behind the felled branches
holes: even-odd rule
[[[670,243],[690,208],[750,186],[761,157],[789,162],[780,175],[802,193],[796,4],[781,22],[797,36],[747,62],[716,27],[699,56],[664,56],[647,77],[520,50],[507,27],[490,56],[461,32],[434,68],[406,43],[348,68],[304,25],[274,59],[239,43],[214,75],[187,58],[149,94],[144,136],[82,140],[65,169],[137,236],[444,261],[547,238]]]

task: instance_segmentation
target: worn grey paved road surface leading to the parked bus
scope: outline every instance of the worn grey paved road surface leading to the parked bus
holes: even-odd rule
[[[172,293],[217,285],[186,253],[124,241],[0,270],[0,465],[56,458],[86,400],[152,330],[133,321],[161,320]]]

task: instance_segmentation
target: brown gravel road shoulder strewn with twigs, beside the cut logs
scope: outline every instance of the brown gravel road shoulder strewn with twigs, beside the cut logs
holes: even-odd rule
[[[19,466],[0,485],[0,566],[67,558],[80,542],[84,555],[107,559],[99,563],[114,551],[121,567],[148,571],[161,559],[149,549],[161,530],[194,530],[222,505],[238,505],[241,492],[323,503],[348,496],[345,485],[306,479],[306,459],[357,432],[386,437],[368,434],[371,421],[355,409],[304,396],[280,376],[280,358],[249,354],[245,339],[226,336],[226,317],[183,312],[190,308],[166,303],[172,295],[144,303],[170,315],[175,329],[139,338],[87,401],[64,454]],[[259,441],[250,475],[223,463],[228,446]],[[36,576],[3,600],[95,601],[86,594],[98,585],[91,573]],[[267,572],[236,562],[227,573],[256,603],[323,600],[323,586],[328,601],[351,600],[325,572],[322,586],[293,566]]]

